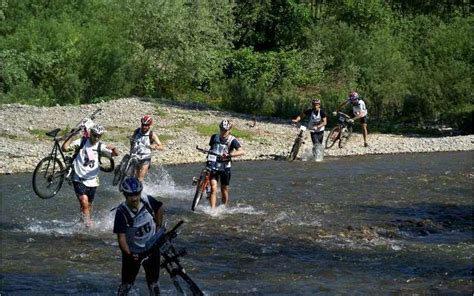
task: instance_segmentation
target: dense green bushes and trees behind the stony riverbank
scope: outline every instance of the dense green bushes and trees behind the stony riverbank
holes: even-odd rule
[[[127,96],[290,117],[351,89],[371,124],[472,132],[469,0],[3,0],[2,103]]]

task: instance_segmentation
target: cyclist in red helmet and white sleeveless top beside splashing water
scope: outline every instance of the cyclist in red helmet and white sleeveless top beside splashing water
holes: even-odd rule
[[[158,135],[151,130],[153,118],[145,115],[141,119],[141,126],[137,128],[131,137],[131,151],[135,152],[140,158],[140,163],[136,171],[136,176],[140,181],[145,179],[151,164],[151,151],[163,150],[164,145],[161,144]]]

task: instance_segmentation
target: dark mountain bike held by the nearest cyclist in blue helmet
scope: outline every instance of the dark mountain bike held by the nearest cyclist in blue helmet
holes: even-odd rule
[[[176,250],[172,240],[178,236],[178,228],[184,222],[179,221],[170,231],[165,232],[165,230],[159,231],[153,241],[147,243],[147,246],[150,246],[149,250],[151,252],[159,251],[163,261],[160,264],[162,268],[168,272],[173,285],[175,286],[177,292],[180,295],[188,295],[187,292],[191,295],[204,295],[199,286],[189,277],[189,275],[184,270],[184,267],[181,265],[179,260],[180,257],[183,257],[187,254],[185,249]]]

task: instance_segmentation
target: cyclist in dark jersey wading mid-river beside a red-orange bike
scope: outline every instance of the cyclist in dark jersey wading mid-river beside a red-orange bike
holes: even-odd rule
[[[208,166],[211,172],[211,208],[215,208],[217,204],[217,183],[221,182],[222,204],[227,205],[229,202],[229,183],[231,177],[232,158],[244,155],[244,150],[239,141],[230,134],[232,123],[224,119],[219,124],[219,134],[211,136],[209,141],[210,151],[218,154],[215,161],[210,161]]]

